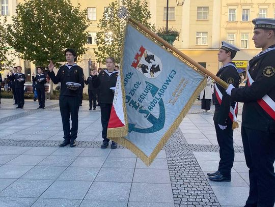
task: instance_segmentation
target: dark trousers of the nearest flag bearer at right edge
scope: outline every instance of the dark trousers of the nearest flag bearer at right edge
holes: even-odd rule
[[[275,133],[241,128],[250,193],[245,206],[270,206],[275,202]]]

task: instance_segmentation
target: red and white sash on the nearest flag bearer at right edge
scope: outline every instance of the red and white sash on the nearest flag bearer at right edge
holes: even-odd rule
[[[249,67],[247,70],[248,74],[248,85],[251,86],[254,80],[252,79],[249,73]],[[268,113],[273,120],[275,120],[275,102],[266,94],[263,98],[257,100],[258,104],[262,107],[262,109]]]

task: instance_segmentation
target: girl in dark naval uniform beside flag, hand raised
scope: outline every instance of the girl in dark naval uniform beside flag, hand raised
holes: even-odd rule
[[[101,125],[102,125],[102,138],[103,142],[101,148],[105,149],[109,145],[107,138],[107,127],[111,115],[111,109],[114,99],[114,92],[110,87],[115,87],[117,83],[118,71],[115,70],[114,57],[106,58],[106,68],[101,71],[97,76],[97,71],[92,72],[92,79],[94,87],[99,87],[100,97],[100,112],[101,112]],[[112,141],[111,149],[116,149],[117,143]]]

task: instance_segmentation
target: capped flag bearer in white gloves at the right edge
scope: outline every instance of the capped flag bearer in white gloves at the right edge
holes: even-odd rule
[[[243,102],[241,136],[250,192],[245,206],[275,202],[275,19],[256,18],[255,47],[262,51],[249,61],[245,87],[229,85],[226,92]]]

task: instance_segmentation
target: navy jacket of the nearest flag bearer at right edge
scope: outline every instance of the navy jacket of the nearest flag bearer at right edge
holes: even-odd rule
[[[275,48],[272,45],[269,48]],[[242,126],[259,131],[275,133],[275,120],[257,103],[264,95],[275,101],[275,50],[255,56],[249,61],[249,73],[255,81],[243,88],[233,88],[231,97],[244,102],[242,109]]]

